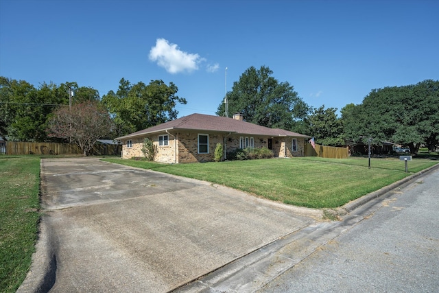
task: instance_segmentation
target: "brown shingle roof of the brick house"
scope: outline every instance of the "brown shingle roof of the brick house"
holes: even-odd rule
[[[176,120],[172,120],[157,126],[146,128],[123,137],[120,139],[129,139],[131,137],[140,137],[145,134],[154,132],[164,132],[165,130],[200,130],[200,131],[217,131],[233,132],[237,134],[254,134],[265,135],[269,137],[309,137],[304,134],[283,130],[280,128],[268,128],[246,121],[239,121],[228,117],[219,117],[203,114],[191,114]]]

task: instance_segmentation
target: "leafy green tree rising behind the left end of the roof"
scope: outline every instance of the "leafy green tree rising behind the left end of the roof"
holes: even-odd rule
[[[115,121],[117,136],[129,134],[176,119],[176,103],[186,104],[184,98],[176,95],[177,86],[162,80],[130,84],[122,78],[115,93],[109,91],[102,102]]]

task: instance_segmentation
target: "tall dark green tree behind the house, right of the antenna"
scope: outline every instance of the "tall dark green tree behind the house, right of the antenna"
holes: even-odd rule
[[[244,120],[270,128],[292,130],[295,121],[303,119],[309,106],[298,97],[288,82],[279,83],[272,77],[273,71],[248,68],[232,91],[226,93],[229,113],[240,112]],[[224,114],[224,103],[219,104],[217,115]]]

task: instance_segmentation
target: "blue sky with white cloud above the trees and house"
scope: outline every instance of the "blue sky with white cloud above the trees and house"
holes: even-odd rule
[[[179,117],[215,115],[249,67],[270,67],[310,106],[439,80],[439,1],[0,0],[0,75],[178,86]],[[226,79],[227,67],[227,79]]]

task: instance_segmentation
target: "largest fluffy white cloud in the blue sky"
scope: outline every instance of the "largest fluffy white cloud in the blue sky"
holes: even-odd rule
[[[149,58],[169,73],[198,70],[200,62],[204,61],[200,55],[181,51],[176,44],[169,44],[164,38],[157,39],[156,45],[150,50]]]

